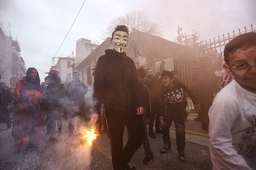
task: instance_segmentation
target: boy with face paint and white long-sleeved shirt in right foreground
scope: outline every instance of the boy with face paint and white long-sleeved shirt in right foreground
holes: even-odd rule
[[[256,169],[256,33],[239,35],[224,49],[224,68],[234,80],[209,110],[213,170]]]

